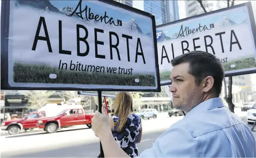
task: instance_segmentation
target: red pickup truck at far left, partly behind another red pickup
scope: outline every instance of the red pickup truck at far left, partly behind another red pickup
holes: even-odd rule
[[[8,130],[9,134],[17,134],[20,130],[28,130],[37,128],[37,121],[39,118],[46,117],[46,113],[43,112],[30,112],[24,118],[13,119],[4,121],[1,124],[1,130]]]

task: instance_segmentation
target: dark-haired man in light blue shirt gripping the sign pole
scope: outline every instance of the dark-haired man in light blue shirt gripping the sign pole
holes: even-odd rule
[[[224,68],[214,55],[193,51],[171,61],[173,105],[187,115],[140,157],[256,157],[250,128],[222,103]],[[106,109],[95,112],[92,129],[105,157],[128,157],[117,145]]]

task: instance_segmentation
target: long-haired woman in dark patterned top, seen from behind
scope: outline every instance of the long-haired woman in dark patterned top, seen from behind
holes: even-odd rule
[[[102,106],[106,112],[105,106]],[[139,156],[136,143],[140,143],[142,124],[140,117],[132,111],[132,96],[128,92],[118,93],[115,99],[114,114],[109,118],[112,138],[131,158]],[[100,155],[98,156],[100,158]]]

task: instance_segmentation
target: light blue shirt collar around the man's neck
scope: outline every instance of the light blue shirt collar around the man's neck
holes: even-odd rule
[[[190,110],[190,112],[187,113],[187,115],[193,115],[195,113],[200,113],[200,112],[203,112],[206,110],[211,110],[214,108],[221,108],[223,106],[224,106],[224,104],[223,104],[221,98],[211,98],[211,99],[201,102],[200,104],[198,104],[197,106],[192,108]]]

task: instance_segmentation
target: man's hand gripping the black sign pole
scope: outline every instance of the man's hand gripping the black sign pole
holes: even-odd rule
[[[94,117],[91,119],[92,130],[97,137],[100,137],[100,135],[106,133],[107,130],[110,130],[109,115],[107,115],[105,106],[102,106],[101,109],[102,114],[97,110],[94,113]]]

